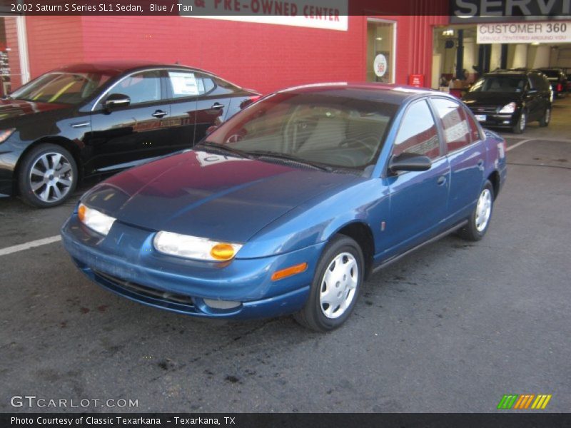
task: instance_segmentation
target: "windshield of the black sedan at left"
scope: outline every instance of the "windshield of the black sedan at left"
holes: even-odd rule
[[[85,101],[111,76],[103,73],[54,71],[22,86],[10,98],[42,103],[79,104]]]

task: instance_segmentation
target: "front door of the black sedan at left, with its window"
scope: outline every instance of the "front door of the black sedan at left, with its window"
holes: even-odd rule
[[[126,76],[108,91],[91,116],[85,145],[91,153],[89,170],[115,170],[166,154],[170,140],[171,107],[163,71],[140,71]],[[123,94],[131,103],[108,111],[107,96]]]

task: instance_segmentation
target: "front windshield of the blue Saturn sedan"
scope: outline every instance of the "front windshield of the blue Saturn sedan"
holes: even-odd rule
[[[375,163],[398,106],[343,90],[276,93],[231,118],[204,144],[256,158],[363,169]]]

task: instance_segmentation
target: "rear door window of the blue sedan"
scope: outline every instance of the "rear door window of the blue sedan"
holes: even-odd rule
[[[448,152],[472,143],[468,118],[460,103],[445,98],[433,98],[432,102],[444,131],[444,142]]]

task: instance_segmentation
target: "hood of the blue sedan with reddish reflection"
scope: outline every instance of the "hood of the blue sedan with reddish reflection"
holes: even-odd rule
[[[187,151],[127,170],[86,205],[150,230],[246,242],[273,220],[358,176]]]

